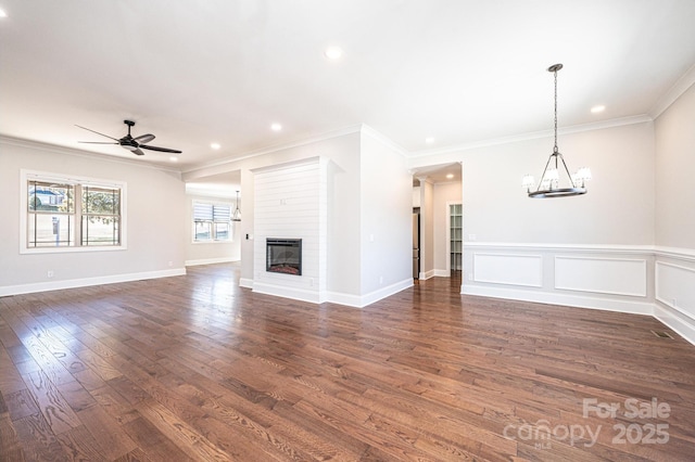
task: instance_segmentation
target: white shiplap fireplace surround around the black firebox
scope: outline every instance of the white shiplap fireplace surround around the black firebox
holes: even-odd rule
[[[253,291],[326,301],[327,165],[321,157],[254,169]],[[302,274],[266,271],[267,239],[302,240]]]

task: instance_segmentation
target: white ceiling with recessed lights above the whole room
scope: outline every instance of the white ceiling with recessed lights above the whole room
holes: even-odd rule
[[[650,115],[693,0],[0,0],[0,134],[190,170],[366,124],[410,153]],[[339,61],[324,56],[339,46]],[[688,72],[690,69],[690,72]],[[681,80],[682,82],[682,80]],[[590,108],[605,104],[606,111]],[[282,130],[270,130],[279,123]],[[426,143],[432,137],[433,143]],[[222,149],[214,151],[211,142]]]

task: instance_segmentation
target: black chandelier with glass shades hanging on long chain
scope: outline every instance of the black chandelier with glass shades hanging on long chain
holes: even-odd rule
[[[563,68],[561,64],[554,64],[547,68],[549,73],[555,76],[555,146],[553,147],[553,154],[545,163],[541,181],[539,181],[535,191],[531,191],[531,188],[535,184],[535,181],[531,175],[523,177],[521,184],[527,190],[529,197],[533,198],[547,198],[547,197],[567,197],[571,195],[586,194],[585,182],[591,180],[591,170],[589,167],[580,168],[577,174],[571,175],[565,163],[563,154],[557,149],[557,72]],[[561,164],[561,165],[560,165]],[[565,177],[567,175],[567,177]],[[560,188],[560,178],[567,178],[569,188]]]

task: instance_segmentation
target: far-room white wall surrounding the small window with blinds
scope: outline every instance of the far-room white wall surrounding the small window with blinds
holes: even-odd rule
[[[231,241],[229,242],[193,242],[193,202],[228,204],[233,210],[236,201],[228,197],[210,195],[186,195],[186,266],[207,265],[224,261],[238,261],[241,258],[241,226],[231,223]]]

